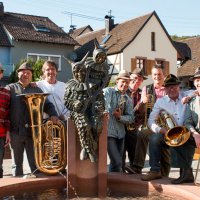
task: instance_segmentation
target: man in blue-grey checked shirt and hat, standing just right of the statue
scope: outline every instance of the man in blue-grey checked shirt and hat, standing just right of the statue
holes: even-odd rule
[[[124,151],[125,126],[133,123],[133,104],[127,95],[130,75],[127,71],[119,72],[115,87],[104,89],[106,103],[105,111],[108,120],[108,155],[110,158],[109,172],[122,171],[122,156]]]

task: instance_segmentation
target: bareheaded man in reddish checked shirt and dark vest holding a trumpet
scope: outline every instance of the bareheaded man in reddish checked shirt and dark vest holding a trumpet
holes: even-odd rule
[[[137,134],[137,142],[135,147],[135,157],[133,166],[131,167],[131,173],[141,174],[145,164],[145,158],[147,155],[147,148],[149,144],[149,136],[152,134],[151,130],[147,127],[148,117],[151,113],[152,107],[157,99],[165,95],[164,72],[160,65],[155,65],[151,70],[151,77],[153,83],[146,85],[142,88],[141,102],[145,104],[145,111],[143,114],[144,123],[141,130]],[[163,155],[169,156],[168,150],[164,150]],[[163,159],[162,174],[163,176],[169,175],[170,166],[165,163]]]

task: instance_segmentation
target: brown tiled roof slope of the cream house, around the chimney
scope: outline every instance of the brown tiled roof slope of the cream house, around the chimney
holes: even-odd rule
[[[121,24],[116,24],[114,28],[109,32],[111,37],[106,42],[106,47],[109,47],[108,55],[121,52],[127,45],[130,44],[151,18],[155,12],[150,14],[126,21]],[[86,34],[82,34],[76,38],[77,42],[81,45],[88,43],[94,38],[101,44],[102,39],[105,37],[105,29],[99,31],[92,31]]]

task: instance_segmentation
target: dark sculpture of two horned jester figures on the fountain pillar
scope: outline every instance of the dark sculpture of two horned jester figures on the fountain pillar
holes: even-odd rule
[[[95,162],[105,110],[102,89],[109,79],[106,53],[96,43],[93,57],[86,54],[80,62],[70,63],[74,79],[66,83],[65,105],[78,131],[80,159]]]

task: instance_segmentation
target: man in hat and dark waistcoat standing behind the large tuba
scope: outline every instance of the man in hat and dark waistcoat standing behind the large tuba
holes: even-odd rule
[[[32,87],[33,68],[28,63],[23,63],[17,69],[19,81],[6,86],[10,90],[10,137],[11,137],[11,152],[12,152],[12,173],[13,176],[23,175],[23,154],[24,150],[27,154],[28,163],[31,172],[36,171],[34,159],[34,147],[32,132],[30,127],[30,117],[25,101],[20,94],[28,93],[43,93],[39,87]],[[44,111],[50,115],[51,120],[56,123],[58,120],[57,113],[52,103],[45,101]]]

